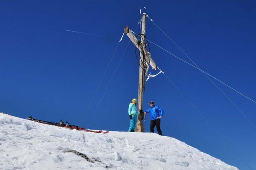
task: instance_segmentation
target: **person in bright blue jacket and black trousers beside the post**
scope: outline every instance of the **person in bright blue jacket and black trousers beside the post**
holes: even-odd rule
[[[154,105],[154,101],[149,102],[150,108],[144,111],[144,115],[150,112],[151,120],[150,120],[150,132],[154,133],[154,127],[156,126],[156,130],[159,135],[162,135],[162,130],[160,129],[160,119],[163,116],[163,109]]]

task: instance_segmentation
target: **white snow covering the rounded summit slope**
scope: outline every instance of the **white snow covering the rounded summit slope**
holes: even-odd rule
[[[83,153],[94,163],[68,150]],[[0,114],[0,153],[0,170],[237,170],[172,137],[97,134],[6,114]]]

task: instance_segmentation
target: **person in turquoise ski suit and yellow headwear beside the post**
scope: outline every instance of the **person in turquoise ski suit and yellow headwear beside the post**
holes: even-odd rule
[[[136,104],[137,104],[136,98],[132,99],[132,103],[129,104],[128,114],[130,118],[130,127],[128,132],[134,132],[136,130],[137,114],[138,114],[138,109]]]

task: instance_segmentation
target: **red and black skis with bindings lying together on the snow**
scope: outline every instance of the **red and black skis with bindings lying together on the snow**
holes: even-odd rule
[[[29,118],[27,118],[29,120],[32,120],[34,122],[38,122],[38,123],[43,123],[43,124],[48,124],[48,125],[53,125],[53,126],[57,126],[57,127],[64,127],[64,128],[67,128],[67,129],[70,129],[70,130],[80,130],[80,131],[85,131],[85,132],[93,132],[93,133],[98,133],[98,134],[108,134],[109,131],[104,131],[103,130],[90,130],[90,129],[84,129],[83,127],[78,127],[78,126],[75,126],[75,125],[62,125],[60,123],[54,123],[54,122],[49,122],[49,121],[45,121],[45,120],[39,120],[39,119],[34,119],[32,116],[30,116]]]

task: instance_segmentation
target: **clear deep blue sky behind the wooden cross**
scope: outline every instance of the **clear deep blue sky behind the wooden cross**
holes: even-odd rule
[[[151,55],[165,75],[146,82],[143,108],[152,100],[165,111],[163,135],[239,169],[256,169],[254,1],[29,0],[0,7],[1,112],[127,131],[139,65],[128,37],[119,40],[125,26],[140,32],[142,9],[200,69],[253,100],[211,78],[232,104],[202,72],[169,54],[192,64],[147,18]]]

